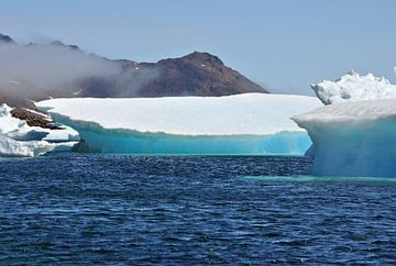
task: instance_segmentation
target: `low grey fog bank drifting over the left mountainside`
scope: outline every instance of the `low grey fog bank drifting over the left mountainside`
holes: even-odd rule
[[[0,44],[0,101],[47,97],[133,97],[157,77],[156,69],[120,62],[62,44]],[[101,95],[103,91],[106,93]],[[2,99],[3,98],[3,99]]]

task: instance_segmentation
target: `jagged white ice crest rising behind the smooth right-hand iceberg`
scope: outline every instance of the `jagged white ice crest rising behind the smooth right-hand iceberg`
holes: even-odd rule
[[[311,88],[324,104],[396,98],[396,86],[386,78],[378,78],[373,74],[360,76],[355,71],[350,71],[336,81],[312,84]]]

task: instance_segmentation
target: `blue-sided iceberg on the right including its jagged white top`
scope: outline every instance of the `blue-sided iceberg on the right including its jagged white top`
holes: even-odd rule
[[[293,118],[314,142],[310,173],[396,177],[396,86],[352,73],[314,89],[324,103],[336,104]]]

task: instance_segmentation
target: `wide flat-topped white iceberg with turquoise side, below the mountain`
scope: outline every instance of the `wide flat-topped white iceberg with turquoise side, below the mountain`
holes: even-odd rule
[[[311,142],[290,117],[319,106],[314,97],[266,93],[36,103],[77,130],[84,151],[211,155],[304,154]]]

